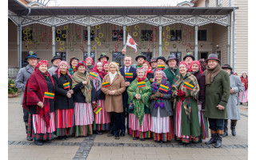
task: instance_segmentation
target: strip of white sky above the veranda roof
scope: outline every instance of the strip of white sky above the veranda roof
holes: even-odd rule
[[[55,1],[55,2],[54,2]],[[54,0],[49,6],[177,6],[185,0]],[[190,2],[190,0],[188,0]]]

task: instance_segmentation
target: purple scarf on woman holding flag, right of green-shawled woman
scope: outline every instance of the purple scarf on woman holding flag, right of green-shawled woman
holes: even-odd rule
[[[162,71],[162,70],[161,70]],[[168,86],[169,90],[163,91],[163,90],[159,90],[160,85],[164,85],[164,86]],[[158,84],[156,81],[154,81],[153,83],[151,83],[151,89],[153,90],[153,94],[160,92],[162,94],[171,94],[171,86],[170,86],[170,82],[166,81],[164,78],[162,78],[162,81]],[[154,108],[157,109],[158,106],[160,106],[161,108],[165,107],[163,98],[158,98],[155,102],[154,102]]]

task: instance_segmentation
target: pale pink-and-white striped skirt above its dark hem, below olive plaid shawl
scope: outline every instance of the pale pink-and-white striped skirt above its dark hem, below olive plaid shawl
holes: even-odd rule
[[[90,103],[74,102],[74,125],[86,126],[94,122],[94,113]]]

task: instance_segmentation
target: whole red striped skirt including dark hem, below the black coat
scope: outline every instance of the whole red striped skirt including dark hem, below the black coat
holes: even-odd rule
[[[56,135],[70,135],[74,131],[74,109],[55,110]]]

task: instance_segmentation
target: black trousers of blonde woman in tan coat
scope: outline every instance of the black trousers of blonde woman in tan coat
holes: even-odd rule
[[[110,132],[119,136],[122,126],[122,113],[110,112],[110,121]]]

